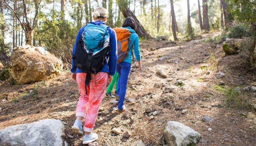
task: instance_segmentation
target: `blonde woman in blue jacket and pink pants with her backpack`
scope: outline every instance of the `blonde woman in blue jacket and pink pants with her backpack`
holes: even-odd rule
[[[72,79],[75,80],[78,84],[79,101],[77,103],[76,108],[76,121],[72,126],[72,130],[75,133],[82,134],[83,130],[85,135],[83,136],[83,144],[89,144],[92,141],[98,139],[98,135],[96,133],[92,133],[92,130],[95,125],[95,121],[98,114],[98,108],[100,107],[102,98],[104,96],[104,90],[107,84],[109,84],[112,80],[112,76],[116,71],[116,61],[117,61],[117,40],[115,31],[105,25],[105,21],[107,20],[107,10],[103,7],[98,7],[95,9],[93,14],[93,19],[95,22],[89,22],[86,26],[82,27],[76,37],[75,45],[73,47],[72,52],[72,68],[71,68],[71,76]],[[88,30],[88,29],[91,30]],[[81,43],[82,35],[84,35],[83,41],[86,43],[86,47],[90,48],[90,45],[95,45],[95,43],[88,43],[86,41],[96,40],[96,39],[88,39],[86,32],[91,33],[89,36],[97,33],[97,29],[106,29],[106,36],[109,37],[110,48],[107,55],[104,58],[103,66],[98,73],[90,73],[90,82],[86,85],[86,78],[88,73],[82,71],[79,66],[76,64],[76,59],[79,57],[77,53],[77,48],[79,48],[79,43]],[[96,31],[95,31],[96,30]],[[104,39],[105,36],[103,36]],[[107,38],[105,37],[105,38]],[[80,40],[80,42],[79,42]],[[78,45],[77,45],[78,44]],[[105,44],[103,44],[105,45]],[[102,46],[102,42],[101,42]],[[101,46],[96,47],[96,49],[90,49],[92,52],[97,52]],[[77,55],[78,54],[78,55]],[[81,53],[80,53],[81,54]],[[80,58],[81,59],[81,58]],[[107,61],[109,59],[109,61]],[[97,61],[94,61],[97,62]],[[94,62],[91,62],[92,64]],[[85,118],[84,126],[82,130],[82,118]]]

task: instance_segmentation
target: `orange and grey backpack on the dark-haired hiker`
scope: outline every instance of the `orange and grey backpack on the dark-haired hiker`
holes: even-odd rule
[[[122,62],[128,55],[129,47],[131,45],[130,31],[127,28],[113,28],[116,32],[117,37],[117,64]],[[133,52],[132,52],[133,54]]]

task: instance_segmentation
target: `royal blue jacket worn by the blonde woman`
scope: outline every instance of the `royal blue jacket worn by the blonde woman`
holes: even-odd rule
[[[91,24],[94,25],[105,25],[103,21],[95,21],[95,22],[90,22]],[[79,32],[76,36],[76,41],[75,45],[73,47],[73,52],[72,56],[75,55],[76,52],[76,42],[80,39],[80,35],[83,33],[84,28],[86,25],[82,28],[79,29]],[[110,53],[106,57],[106,64],[102,67],[100,72],[107,72],[109,75],[114,75],[116,72],[116,62],[117,62],[117,40],[116,40],[116,32],[112,28],[108,28],[108,33],[109,33],[109,42],[110,42]],[[109,57],[109,61],[107,61]],[[72,68],[70,70],[72,73],[84,73],[80,69],[75,67],[74,60],[72,59]]]

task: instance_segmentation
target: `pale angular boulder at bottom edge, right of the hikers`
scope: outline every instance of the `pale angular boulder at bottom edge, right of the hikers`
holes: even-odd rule
[[[168,121],[164,132],[168,146],[196,145],[201,135],[192,128],[175,121]]]

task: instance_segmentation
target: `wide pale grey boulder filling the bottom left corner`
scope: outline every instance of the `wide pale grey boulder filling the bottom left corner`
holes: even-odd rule
[[[9,126],[0,130],[2,146],[62,146],[64,125],[55,119]]]

